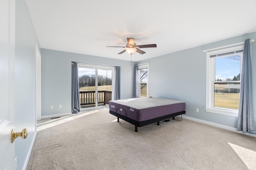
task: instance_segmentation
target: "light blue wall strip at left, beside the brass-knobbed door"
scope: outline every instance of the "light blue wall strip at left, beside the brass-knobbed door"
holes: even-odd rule
[[[15,130],[28,129],[26,139],[15,140],[15,155],[17,169],[23,169],[36,135],[35,47],[38,39],[25,0],[16,0],[15,12]]]

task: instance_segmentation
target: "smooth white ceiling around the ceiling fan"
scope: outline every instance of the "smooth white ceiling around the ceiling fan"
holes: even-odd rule
[[[40,47],[132,61],[256,31],[256,0],[26,0]]]

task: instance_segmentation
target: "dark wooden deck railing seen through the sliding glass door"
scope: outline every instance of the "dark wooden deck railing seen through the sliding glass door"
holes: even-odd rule
[[[79,92],[80,93],[80,105],[95,104],[96,95],[95,91]],[[110,91],[98,91],[98,104],[108,104],[112,98],[112,92]]]

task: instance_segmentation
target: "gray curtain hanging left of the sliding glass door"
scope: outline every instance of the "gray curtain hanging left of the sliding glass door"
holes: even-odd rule
[[[81,111],[80,106],[80,94],[79,94],[79,82],[78,82],[78,68],[77,63],[74,63],[73,66],[73,110],[74,113],[78,113]]]

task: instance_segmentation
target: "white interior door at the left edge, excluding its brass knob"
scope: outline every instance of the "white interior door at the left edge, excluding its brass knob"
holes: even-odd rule
[[[0,1],[0,170],[14,170],[15,0]]]

